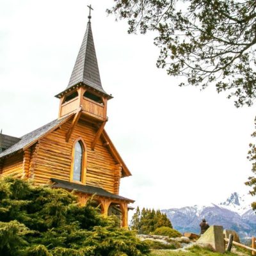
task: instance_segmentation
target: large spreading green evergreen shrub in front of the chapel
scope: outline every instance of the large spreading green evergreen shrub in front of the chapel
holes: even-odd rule
[[[64,189],[0,180],[0,255],[145,255],[147,244]]]

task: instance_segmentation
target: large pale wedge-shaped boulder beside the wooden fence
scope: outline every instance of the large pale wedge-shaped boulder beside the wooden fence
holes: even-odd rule
[[[225,241],[222,226],[211,226],[196,241],[197,244],[209,244],[214,251],[225,253]]]

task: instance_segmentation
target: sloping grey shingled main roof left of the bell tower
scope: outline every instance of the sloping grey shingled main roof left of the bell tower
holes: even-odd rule
[[[17,143],[15,143],[14,145],[12,145],[12,147],[4,150],[0,154],[0,158],[4,157],[4,156],[8,156],[12,153],[15,153],[15,152],[21,150],[22,148],[30,145],[31,143],[33,143],[33,141],[39,139],[46,132],[51,131],[51,129],[54,129],[54,127],[57,127],[58,125],[62,124],[63,122],[66,122],[66,120],[68,118],[70,118],[70,116],[66,116],[65,118],[53,120],[49,124],[45,124],[44,126],[36,129],[35,131],[29,132],[28,134],[22,136],[21,138],[17,138],[17,139],[19,139],[19,141],[17,141]]]

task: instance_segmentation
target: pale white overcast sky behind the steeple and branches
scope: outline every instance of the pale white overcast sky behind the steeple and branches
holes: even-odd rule
[[[132,176],[120,195],[166,209],[248,192],[255,106],[236,109],[214,88],[177,86],[156,68],[154,34],[128,35],[113,1],[0,0],[0,129],[22,136],[58,117],[92,3],[92,31],[109,101],[106,131]]]

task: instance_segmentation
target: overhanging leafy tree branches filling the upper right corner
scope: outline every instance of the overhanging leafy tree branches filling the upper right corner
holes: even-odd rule
[[[228,90],[237,107],[256,97],[255,0],[115,0],[108,13],[126,19],[128,33],[156,31],[157,67],[184,76],[180,86]]]

